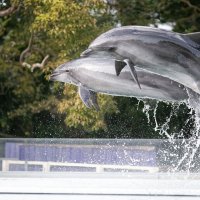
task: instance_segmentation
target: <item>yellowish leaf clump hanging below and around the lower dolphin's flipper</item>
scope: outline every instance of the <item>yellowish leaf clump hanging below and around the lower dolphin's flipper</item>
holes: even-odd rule
[[[106,129],[105,114],[117,112],[117,106],[113,97],[98,95],[100,111],[91,110],[84,106],[77,93],[77,88],[66,85],[64,89],[65,99],[58,104],[58,111],[68,113],[66,124],[69,127],[80,127],[88,131]],[[72,101],[73,99],[73,101]]]

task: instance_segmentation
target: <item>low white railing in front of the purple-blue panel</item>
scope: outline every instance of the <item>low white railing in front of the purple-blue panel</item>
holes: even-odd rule
[[[51,172],[51,167],[83,167],[94,168],[96,172],[104,172],[106,170],[130,170],[130,171],[147,171],[155,173],[159,171],[158,167],[150,166],[131,166],[131,165],[101,165],[101,164],[86,164],[86,163],[68,163],[68,162],[42,162],[42,161],[24,161],[24,160],[2,160],[2,171],[9,171],[11,164],[35,165],[42,166],[43,172]]]

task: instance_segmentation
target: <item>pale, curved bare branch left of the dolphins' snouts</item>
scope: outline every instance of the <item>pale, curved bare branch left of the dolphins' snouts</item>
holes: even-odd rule
[[[23,66],[23,67],[28,67],[29,69],[31,69],[31,71],[33,72],[33,70],[35,69],[35,68],[43,68],[45,65],[46,65],[46,63],[47,63],[47,60],[48,60],[48,58],[49,58],[49,55],[46,55],[44,58],[43,58],[43,60],[42,60],[42,62],[41,63],[34,63],[34,64],[29,64],[29,63],[27,63],[27,62],[24,62],[24,58],[25,58],[25,56],[31,51],[31,49],[32,49],[32,43],[33,43],[33,33],[31,33],[31,37],[30,37],[30,39],[29,39],[29,43],[28,43],[28,47],[24,50],[24,51],[22,51],[22,53],[21,53],[21,55],[20,55],[20,59],[19,59],[19,62],[20,62],[20,64]],[[39,51],[40,53],[41,53],[41,50],[40,49],[37,49],[37,48],[34,48],[35,50],[37,50],[37,51]]]

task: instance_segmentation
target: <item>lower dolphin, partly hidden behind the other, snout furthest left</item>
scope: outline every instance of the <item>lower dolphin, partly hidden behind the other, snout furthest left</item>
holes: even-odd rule
[[[85,57],[60,65],[50,80],[78,86],[79,95],[88,108],[99,110],[97,93],[113,96],[184,101],[189,98],[187,88],[168,78],[137,68],[142,90],[134,81],[128,66],[116,76],[115,59]]]

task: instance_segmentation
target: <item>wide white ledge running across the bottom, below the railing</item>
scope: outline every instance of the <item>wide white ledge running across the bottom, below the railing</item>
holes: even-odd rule
[[[160,195],[200,198],[200,177],[196,174],[35,173],[34,175],[32,172],[24,172],[15,173],[15,176],[14,173],[0,175],[2,195]]]

